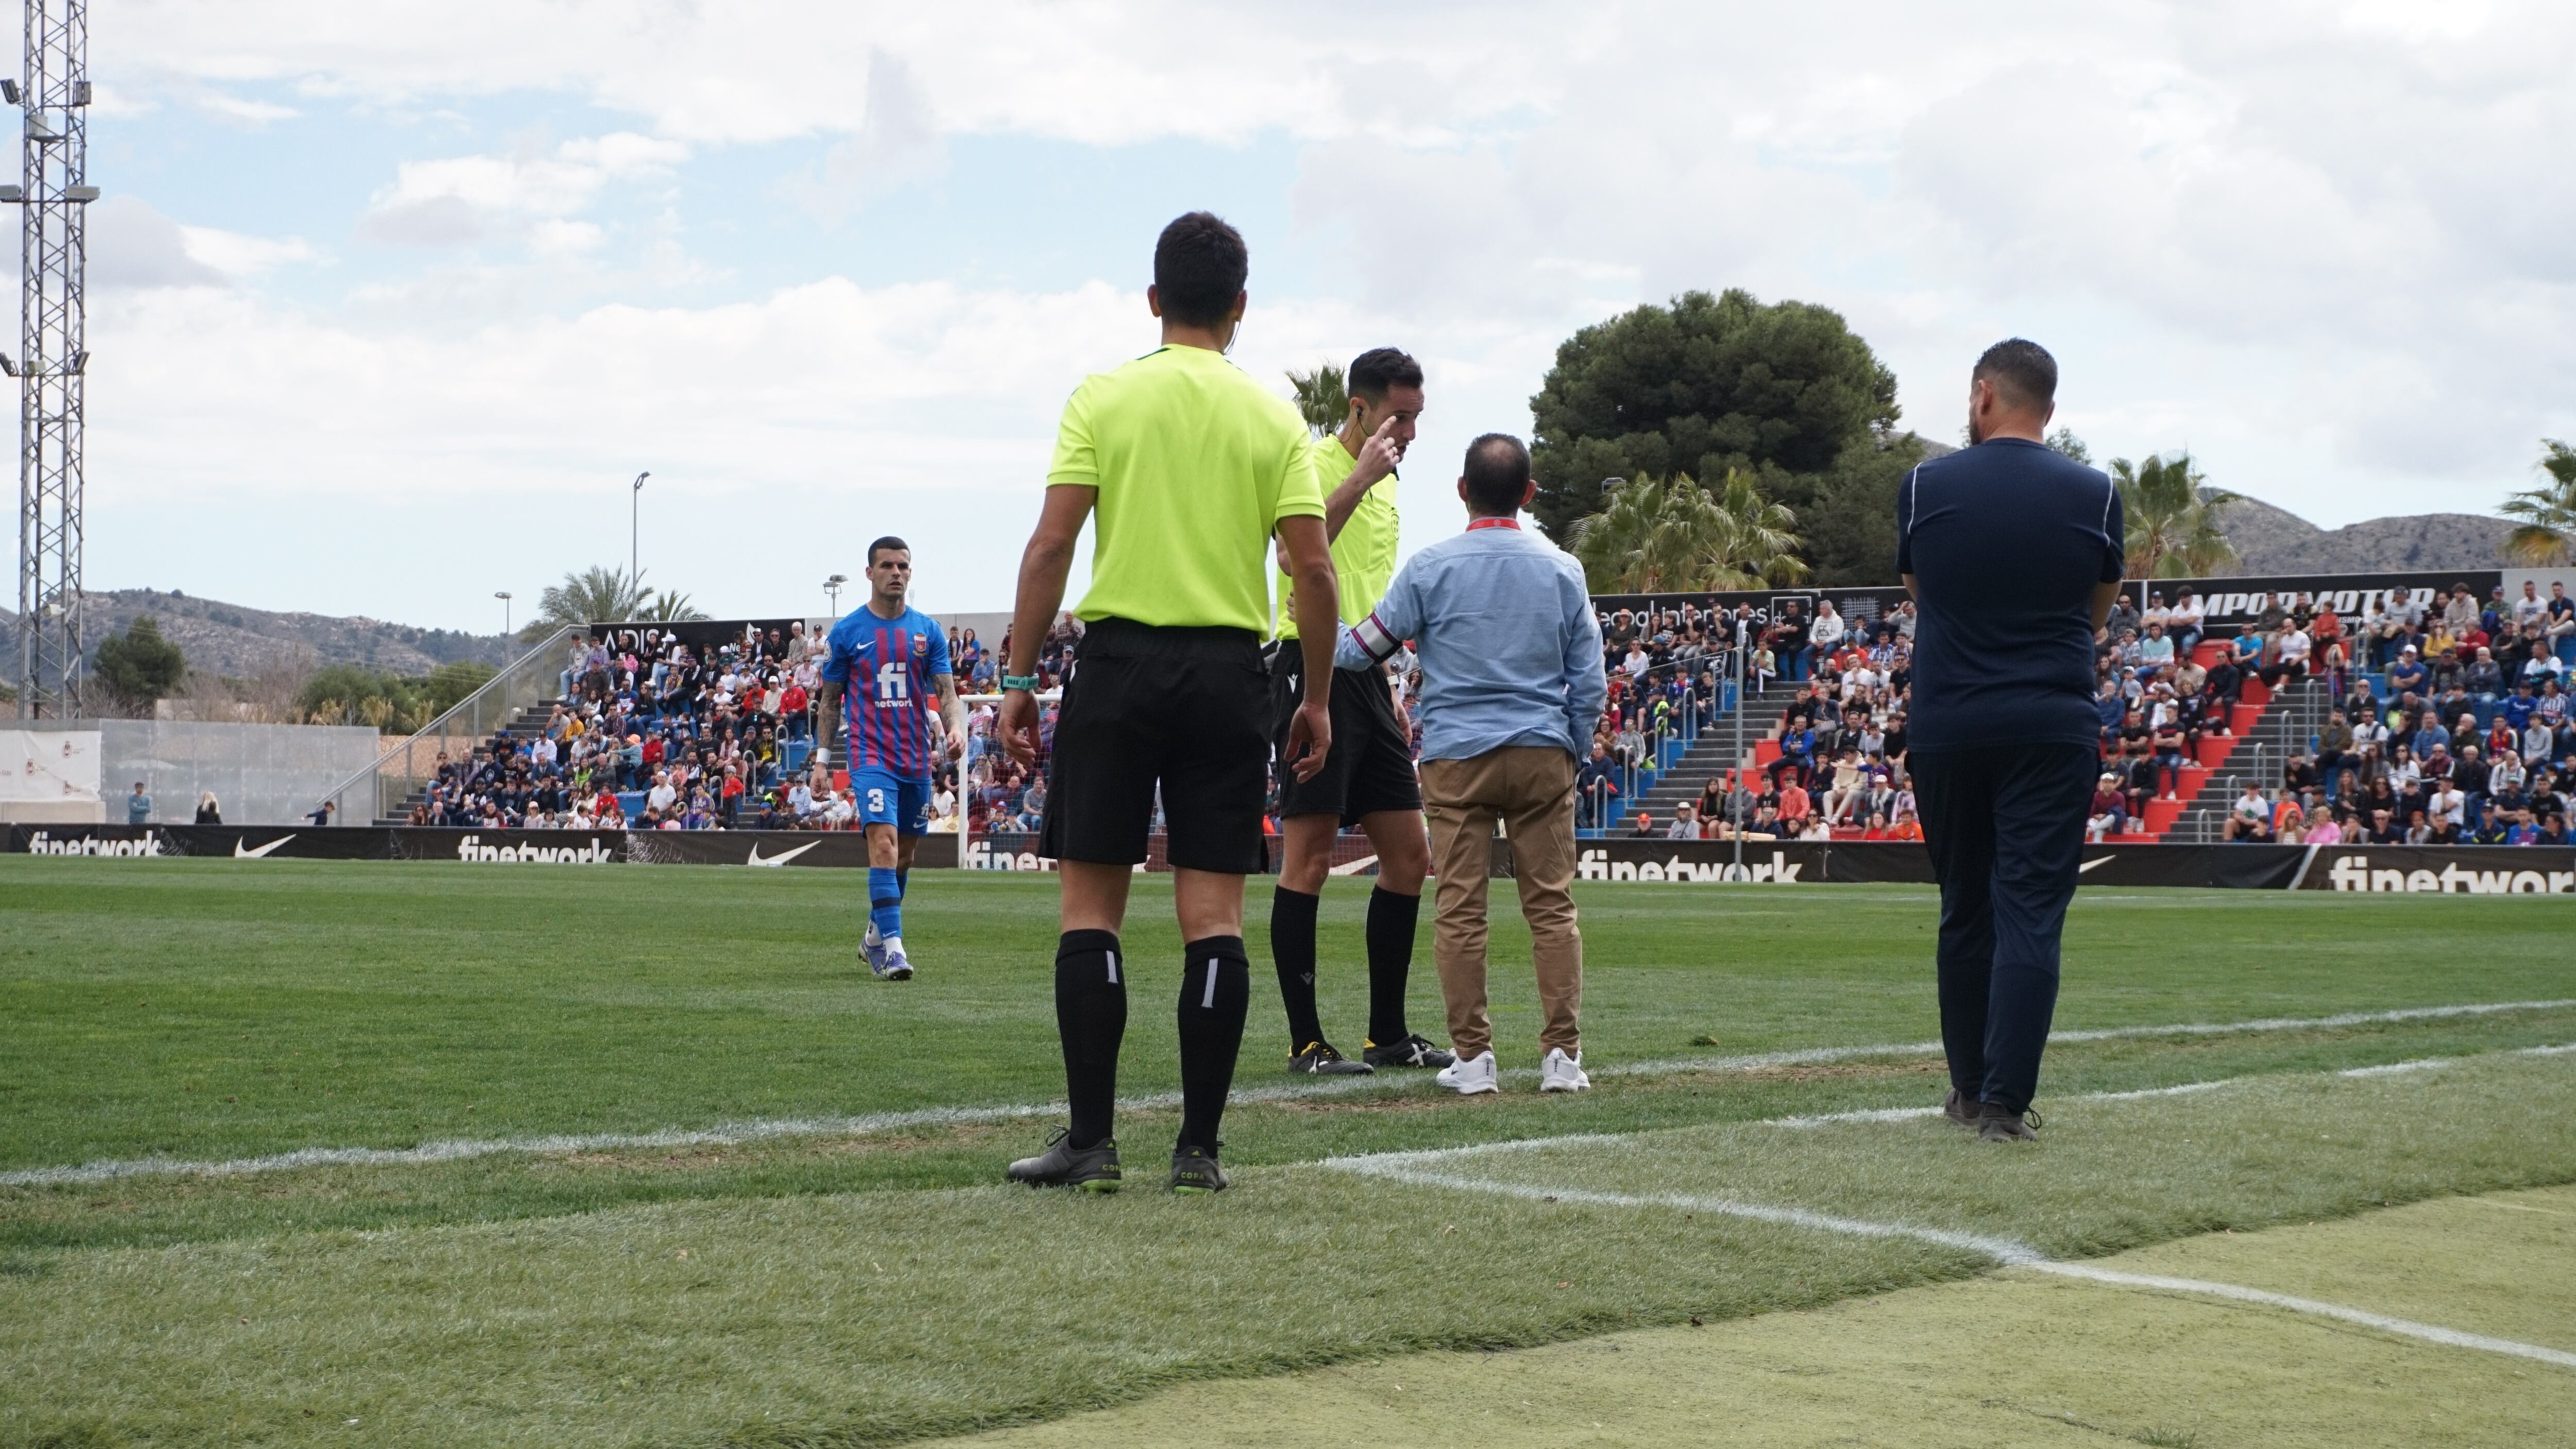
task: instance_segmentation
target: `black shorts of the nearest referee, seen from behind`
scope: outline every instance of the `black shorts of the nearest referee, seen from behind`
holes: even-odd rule
[[[1092,623],[1056,710],[1038,854],[1141,862],[1162,785],[1175,870],[1260,875],[1270,865],[1265,690],[1252,631]]]

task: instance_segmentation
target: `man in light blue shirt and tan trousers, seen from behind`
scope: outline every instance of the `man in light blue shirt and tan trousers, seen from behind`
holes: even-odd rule
[[[1494,821],[1512,842],[1512,883],[1538,968],[1540,1091],[1592,1086],[1577,1017],[1584,942],[1574,927],[1574,775],[1592,746],[1607,679],[1584,569],[1533,533],[1530,450],[1486,432],[1466,450],[1468,525],[1396,571],[1386,600],[1345,625],[1334,664],[1360,669],[1414,641],[1422,656],[1422,803],[1440,875],[1432,955],[1458,1060],[1440,1084],[1497,1091],[1486,1019],[1486,870]]]

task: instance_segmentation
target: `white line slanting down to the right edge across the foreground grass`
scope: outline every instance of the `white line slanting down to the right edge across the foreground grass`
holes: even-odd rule
[[[1566,1138],[1574,1140],[1574,1138]],[[2349,1307],[2342,1302],[2321,1302],[2313,1297],[2290,1297],[2285,1292],[2267,1292],[2259,1287],[2244,1287],[2231,1282],[2208,1279],[2177,1279],[2161,1274],[2125,1274],[2117,1269],[2097,1269],[2092,1264],[2061,1264],[2043,1256],[2038,1248],[2020,1243],[2014,1238],[1991,1238],[1984,1233],[1953,1233],[1947,1228],[1919,1228],[1911,1223],[1870,1223],[1862,1217],[1837,1217],[1832,1212],[1808,1212],[1803,1207],[1767,1207],[1759,1202],[1736,1202],[1728,1197],[1687,1197],[1687,1194],[1628,1194],[1628,1192],[1592,1192],[1579,1186],[1546,1186],[1546,1184],[1517,1184],[1517,1181],[1489,1181],[1481,1176],[1419,1171],[1394,1163],[1370,1163],[1365,1158],[1340,1158],[1327,1166],[1340,1166],[1342,1171],[1355,1171],[1360,1176],[1376,1176],[1386,1181],[1401,1181],[1412,1186],[1448,1186],[1458,1192],[1489,1192],[1497,1197],[1517,1197],[1522,1202],[1574,1202],[1582,1207],[1664,1207],[1680,1212],[1708,1212],[1710,1217],[1741,1217],[1749,1223],[1777,1223],[1783,1228],[1808,1228],[1816,1233],[1844,1233],[1852,1238],[1904,1238],[1914,1243],[1929,1243],[1937,1248],[1958,1248],[1965,1253],[1978,1253],[2004,1269],[2030,1269],[2040,1274],[2056,1274],[2066,1279],[2099,1282],[2110,1287],[2136,1287],[2156,1292],[2187,1292],[2200,1297],[2223,1297],[2231,1302],[2254,1302],[2262,1307],[2280,1307],[2287,1313],[2306,1313],[2313,1318],[2334,1318],[2339,1323],[2357,1323],[2362,1328],[2378,1328],[2383,1333],[2396,1333],[2403,1338],[2419,1338],[2424,1343],[2442,1343],[2450,1349],[2478,1349],[2486,1354],[2509,1354],[2514,1359],[2532,1359],[2540,1364],[2555,1364],[2561,1369],[2576,1369],[2576,1354],[2561,1349],[2545,1349],[2540,1343],[2519,1343],[2514,1338],[2491,1338],[2486,1333],[2463,1333],[2458,1328],[2442,1328],[2437,1323],[2416,1323],[2411,1318],[2391,1318],[2385,1313],[2370,1313],[2367,1307]]]

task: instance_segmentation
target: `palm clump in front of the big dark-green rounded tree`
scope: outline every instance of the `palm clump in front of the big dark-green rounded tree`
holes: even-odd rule
[[[1600,592],[1759,589],[1806,577],[1798,515],[1734,468],[1710,497],[1687,474],[1610,489],[1610,507],[1577,520],[1574,556]]]

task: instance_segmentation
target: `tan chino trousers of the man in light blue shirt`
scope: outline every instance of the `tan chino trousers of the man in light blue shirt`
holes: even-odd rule
[[[1450,1050],[1481,1055],[1494,1045],[1486,1019],[1484,942],[1486,878],[1494,821],[1512,839],[1512,883],[1530,921],[1538,968],[1538,1050],[1582,1055],[1577,1017],[1584,1001],[1584,937],[1574,929],[1574,757],[1564,749],[1510,744],[1473,759],[1425,759],[1422,808],[1432,824],[1432,870],[1440,916],[1432,957],[1448,1001]]]

